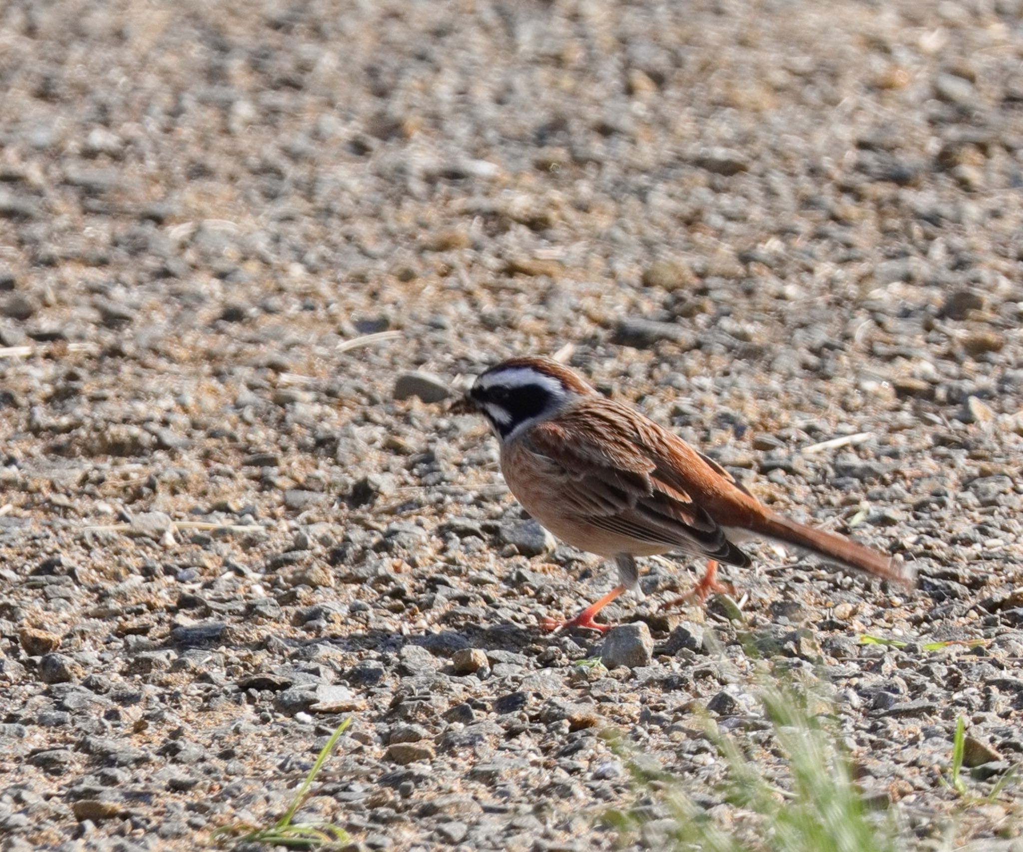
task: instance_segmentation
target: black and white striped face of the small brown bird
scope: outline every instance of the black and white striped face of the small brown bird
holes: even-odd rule
[[[519,366],[487,370],[477,377],[469,392],[469,399],[502,441],[552,417],[568,396],[568,391],[553,376]]]

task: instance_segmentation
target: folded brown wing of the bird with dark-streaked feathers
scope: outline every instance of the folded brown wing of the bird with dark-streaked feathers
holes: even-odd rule
[[[707,509],[694,502],[685,473],[673,469],[656,446],[637,440],[636,416],[624,406],[579,406],[529,431],[531,449],[560,476],[566,511],[627,538],[749,565]],[[717,476],[699,463],[708,476]]]

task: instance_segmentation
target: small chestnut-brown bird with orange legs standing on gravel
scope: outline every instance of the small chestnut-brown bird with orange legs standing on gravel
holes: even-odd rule
[[[543,620],[547,629],[606,632],[609,626],[594,617],[621,594],[638,592],[642,556],[707,558],[694,590],[703,599],[723,588],[718,563],[752,565],[740,545],[754,539],[915,585],[911,565],[773,511],[712,458],[560,361],[536,355],[501,361],[476,376],[450,410],[486,418],[500,444],[504,481],[534,520],[617,566],[614,589],[575,618]]]

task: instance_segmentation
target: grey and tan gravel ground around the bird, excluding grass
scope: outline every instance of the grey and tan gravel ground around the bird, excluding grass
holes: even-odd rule
[[[977,794],[1023,757],[1021,10],[0,5],[2,848],[205,846],[348,714],[304,811],[353,849],[611,849],[607,726],[742,821],[700,719],[781,772],[743,634],[824,664],[922,848],[1008,848],[1020,788],[938,773],[960,715]],[[667,618],[651,563],[628,665],[574,665],[537,621],[612,572],[443,402],[567,344],[920,589],[759,547],[740,620]]]

